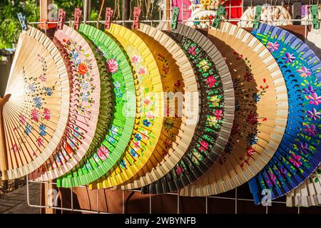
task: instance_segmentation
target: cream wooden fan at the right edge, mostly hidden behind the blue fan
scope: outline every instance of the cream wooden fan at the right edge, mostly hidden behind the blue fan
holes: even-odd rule
[[[307,34],[305,43],[315,52],[316,56],[321,55],[321,34],[320,31],[312,30]],[[316,113],[315,113],[316,114]],[[320,119],[321,113],[315,118]],[[321,204],[321,166],[310,175],[299,187],[287,194],[287,207],[310,207]]]

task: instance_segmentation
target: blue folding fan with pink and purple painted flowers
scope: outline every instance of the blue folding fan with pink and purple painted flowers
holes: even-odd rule
[[[249,182],[258,204],[262,190],[270,190],[272,199],[285,195],[307,179],[321,161],[321,63],[305,43],[282,28],[260,24],[253,34],[279,64],[289,98],[287,126],[280,146]]]

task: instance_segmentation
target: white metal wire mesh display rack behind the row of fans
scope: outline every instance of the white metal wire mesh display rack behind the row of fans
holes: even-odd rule
[[[232,9],[233,7],[242,7],[243,9],[243,5],[241,6],[229,6],[228,9]],[[170,4],[170,9],[171,9],[171,4]],[[183,7],[180,9],[181,10],[181,13],[183,14]],[[170,18],[171,18],[171,11],[169,12],[170,14]],[[193,20],[193,21],[208,21],[208,20]],[[229,22],[240,22],[240,19],[226,19],[225,21],[229,21]],[[244,21],[244,20],[243,20]],[[273,22],[273,20],[271,20]],[[274,20],[274,21],[278,21],[278,20]],[[280,20],[281,21],[281,20]],[[305,20],[302,20],[302,19],[290,19],[290,20],[282,20],[282,21],[304,21],[305,23],[302,25],[302,26],[305,26],[305,38],[307,37],[307,33],[309,31],[309,24],[312,20],[310,19],[305,19]],[[99,21],[99,23],[103,24],[105,21]],[[117,23],[117,24],[126,24],[126,23],[132,23],[133,20],[118,20],[118,21],[113,21],[113,23]],[[159,20],[142,20],[140,21],[141,23],[146,23],[146,24],[150,24],[151,26],[157,26],[158,24],[160,23],[168,23],[170,22],[170,20],[166,20],[166,19],[162,19],[162,16],[160,14],[160,19]],[[188,20],[182,20],[182,22],[188,22]],[[51,21],[45,21],[45,22],[29,22],[29,24],[33,25],[33,26],[36,26],[37,24],[55,24],[57,22],[51,22]],[[97,21],[83,21],[83,23],[86,23],[86,24],[96,24]],[[71,25],[72,24],[72,21],[67,21],[66,24],[69,24]],[[46,30],[45,30],[45,33],[46,33]],[[73,202],[73,188],[70,189],[70,192],[71,192],[71,195],[70,195],[70,204],[71,204],[71,207],[58,207],[56,205],[56,200],[57,200],[57,197],[55,196],[56,195],[56,192],[53,192],[54,194],[49,194],[48,197],[46,197],[45,201],[46,203],[45,204],[41,204],[39,202],[39,204],[32,204],[31,203],[31,195],[29,194],[29,185],[32,184],[38,184],[38,185],[46,185],[47,187],[49,187],[50,185],[52,186],[55,186],[56,185],[56,182],[39,182],[39,181],[34,181],[34,180],[29,180],[29,178],[27,177],[26,179],[26,185],[27,185],[27,202],[28,202],[28,205],[30,207],[38,207],[39,209],[55,209],[55,210],[61,210],[61,212],[63,211],[66,211],[66,212],[82,212],[82,213],[93,213],[93,214],[112,214],[110,212],[103,212],[99,209],[98,207],[98,202],[99,202],[99,195],[98,195],[98,190],[88,190],[88,187],[86,186],[81,186],[83,188],[86,188],[86,190],[88,191],[96,191],[96,200],[97,200],[97,208],[96,209],[78,209],[75,207],[74,205],[74,202]],[[209,207],[210,207],[210,201],[211,199],[220,199],[220,200],[223,200],[224,202],[229,202],[229,207],[231,207],[230,209],[233,210],[233,212],[235,214],[239,214],[240,213],[240,209],[239,209],[239,204],[241,202],[251,202],[254,204],[254,200],[253,199],[250,199],[250,198],[246,198],[246,197],[242,197],[238,194],[238,189],[239,188],[236,188],[235,190],[232,190],[234,191],[234,194],[233,196],[228,196],[228,197],[225,197],[225,196],[209,196],[209,197],[203,197],[204,200],[205,200],[205,208],[204,208],[204,212],[206,214],[210,213],[209,212]],[[127,191],[127,192],[139,192],[139,191]],[[177,193],[168,193],[166,195],[172,195],[174,197],[176,197],[176,200],[177,200],[177,210],[176,212],[178,214],[181,213],[181,208],[180,208],[180,195],[179,195],[179,192]],[[232,203],[233,202],[233,203]],[[280,204],[282,205],[282,207],[285,208],[285,200],[272,200],[271,201],[272,204]],[[149,203],[148,203],[148,207],[149,207],[149,213],[152,214],[153,213],[153,200],[152,200],[152,195],[149,195]],[[264,207],[264,206],[259,206],[261,207]],[[321,208],[321,207],[320,207]],[[125,192],[123,191],[123,200],[122,200],[122,209],[121,211],[123,213],[126,212],[126,205],[125,205]],[[262,211],[262,210],[261,210]],[[268,214],[270,212],[270,207],[269,205],[267,204],[265,206],[265,210],[264,210],[265,214]],[[292,210],[292,212],[295,212],[297,214],[300,214],[301,213],[301,208],[300,207],[297,207],[295,209]]]

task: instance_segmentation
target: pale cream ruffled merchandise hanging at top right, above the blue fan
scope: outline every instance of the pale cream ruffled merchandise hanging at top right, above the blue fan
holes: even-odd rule
[[[248,7],[243,12],[241,16],[240,22],[238,25],[240,27],[253,27],[253,19],[255,16],[257,6]],[[260,21],[263,21],[266,24],[271,24],[274,26],[289,26],[292,25],[292,19],[289,8],[285,6],[271,6],[271,5],[263,5],[262,14],[260,17]]]

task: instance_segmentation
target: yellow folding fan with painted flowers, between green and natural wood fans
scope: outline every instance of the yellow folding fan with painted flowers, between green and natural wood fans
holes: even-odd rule
[[[112,24],[106,32],[121,43],[138,74],[139,113],[126,152],[104,177],[90,186],[93,188],[119,185],[141,170],[160,138],[164,112],[161,74],[146,43],[133,31],[116,24]]]

